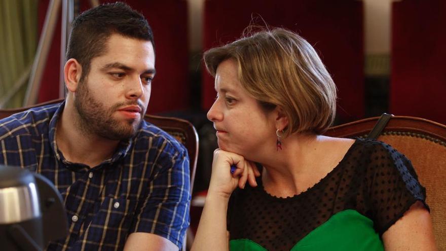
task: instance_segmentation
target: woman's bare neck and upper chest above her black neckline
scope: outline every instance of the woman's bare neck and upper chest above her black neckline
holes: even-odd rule
[[[272,195],[287,197],[314,186],[342,160],[353,139],[290,135],[283,149],[264,163],[262,181]]]

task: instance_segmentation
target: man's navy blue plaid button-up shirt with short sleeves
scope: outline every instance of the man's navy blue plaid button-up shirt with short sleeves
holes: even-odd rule
[[[69,235],[49,250],[120,250],[134,232],[153,233],[181,247],[189,226],[189,157],[166,132],[142,123],[112,158],[90,168],[57,149],[64,102],[0,120],[0,164],[38,172],[62,195]]]

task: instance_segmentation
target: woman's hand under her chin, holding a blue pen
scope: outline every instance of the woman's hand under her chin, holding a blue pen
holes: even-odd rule
[[[231,173],[231,165],[237,166],[234,173]],[[237,186],[244,188],[246,182],[252,187],[257,186],[256,176],[260,176],[260,172],[253,162],[241,155],[215,149],[208,194],[216,193],[229,198]]]

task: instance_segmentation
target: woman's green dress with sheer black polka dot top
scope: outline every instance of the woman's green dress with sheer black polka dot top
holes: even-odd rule
[[[371,139],[357,138],[338,166],[299,195],[278,198],[261,177],[257,183],[231,196],[232,251],[384,250],[381,235],[425,201],[411,162]]]

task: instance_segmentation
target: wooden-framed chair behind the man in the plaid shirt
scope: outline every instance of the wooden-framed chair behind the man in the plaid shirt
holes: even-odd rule
[[[61,102],[63,99],[51,100],[48,102],[32,105],[29,107],[21,107],[18,109],[0,109],[0,119],[9,117],[15,113],[23,112],[32,107],[42,106],[47,104],[53,104]],[[145,115],[145,121],[150,122],[159,128],[163,129],[173,137],[175,137],[184,147],[188,150],[189,154],[189,166],[190,166],[190,177],[191,177],[191,194],[194,186],[194,178],[195,178],[195,169],[197,167],[197,158],[198,158],[198,134],[195,127],[186,120],[172,118],[172,117],[162,117],[162,116],[154,116],[154,115]],[[188,235],[191,235],[190,230],[188,229]],[[183,250],[185,250],[185,242]]]

